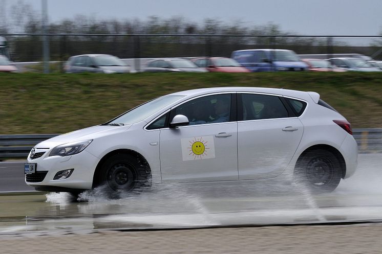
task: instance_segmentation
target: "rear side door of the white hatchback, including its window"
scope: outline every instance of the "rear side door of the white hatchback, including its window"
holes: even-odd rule
[[[238,94],[239,179],[280,175],[300,144],[304,131],[284,98]]]

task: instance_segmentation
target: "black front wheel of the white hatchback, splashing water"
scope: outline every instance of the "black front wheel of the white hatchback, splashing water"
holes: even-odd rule
[[[151,186],[151,173],[145,161],[131,154],[115,154],[101,166],[99,185],[105,185],[109,197],[120,193],[140,191]]]

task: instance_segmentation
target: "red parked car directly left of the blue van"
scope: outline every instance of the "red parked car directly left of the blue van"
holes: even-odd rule
[[[250,71],[235,59],[227,57],[198,57],[191,59],[196,65],[209,72],[249,73]]]

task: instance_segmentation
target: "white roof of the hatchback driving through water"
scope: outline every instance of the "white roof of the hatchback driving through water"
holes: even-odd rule
[[[224,92],[249,92],[249,93],[262,93],[262,94],[272,94],[272,95],[282,95],[288,97],[299,98],[303,100],[315,100],[313,97],[320,97],[319,94],[314,92],[298,91],[298,90],[289,90],[282,88],[266,88],[266,87],[214,87],[214,88],[200,88],[179,91],[171,95],[182,95],[186,97],[195,97],[205,94],[213,93],[224,93]],[[318,99],[317,99],[318,101]]]

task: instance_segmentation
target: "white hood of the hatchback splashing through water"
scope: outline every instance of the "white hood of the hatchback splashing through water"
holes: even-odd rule
[[[132,124],[123,126],[97,125],[49,138],[49,140],[38,143],[36,147],[53,148],[55,146],[71,142],[94,140],[97,137],[107,136],[126,131],[131,126]]]

